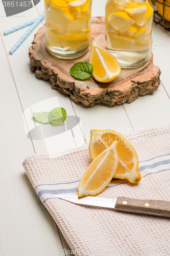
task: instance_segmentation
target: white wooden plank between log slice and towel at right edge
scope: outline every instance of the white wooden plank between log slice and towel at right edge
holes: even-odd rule
[[[154,95],[139,97],[124,108],[135,132],[151,127],[161,127],[170,124],[170,100],[162,84]]]

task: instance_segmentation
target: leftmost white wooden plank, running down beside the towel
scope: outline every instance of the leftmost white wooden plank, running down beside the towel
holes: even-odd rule
[[[34,154],[23,125],[23,112],[0,36],[2,256],[62,255],[55,222],[37,197],[21,163]]]

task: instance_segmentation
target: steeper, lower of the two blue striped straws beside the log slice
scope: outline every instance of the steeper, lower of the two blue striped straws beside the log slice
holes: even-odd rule
[[[22,42],[28,37],[28,35],[34,30],[34,28],[40,23],[40,21],[44,19],[44,12],[36,19],[36,21],[31,25],[31,27],[26,31],[25,34],[19,39],[19,41],[14,45],[14,47],[9,51],[10,54],[13,54],[18,47],[22,44]]]

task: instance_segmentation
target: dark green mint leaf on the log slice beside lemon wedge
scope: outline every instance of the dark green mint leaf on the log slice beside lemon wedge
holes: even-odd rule
[[[69,73],[77,79],[85,80],[92,75],[93,66],[86,61],[77,62],[70,68]]]

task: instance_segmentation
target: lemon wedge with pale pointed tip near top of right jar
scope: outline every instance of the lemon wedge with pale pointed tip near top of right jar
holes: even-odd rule
[[[136,24],[138,26],[143,26],[145,22],[145,12],[147,10],[147,7],[142,4],[138,4],[136,2],[131,2],[126,8],[125,11],[128,12],[133,19],[136,20]]]

